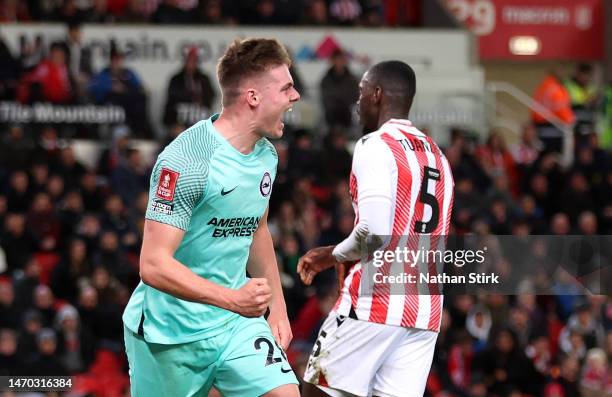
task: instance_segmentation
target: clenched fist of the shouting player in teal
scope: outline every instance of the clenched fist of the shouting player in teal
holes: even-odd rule
[[[272,290],[265,278],[252,278],[239,290],[232,291],[230,310],[244,317],[263,316],[272,299]]]

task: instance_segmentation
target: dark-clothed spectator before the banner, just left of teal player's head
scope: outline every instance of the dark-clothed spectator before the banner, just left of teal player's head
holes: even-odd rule
[[[178,118],[178,108],[181,105],[195,105],[199,108],[199,113],[212,112],[216,93],[210,78],[200,69],[199,62],[198,48],[189,48],[183,67],[170,79],[164,111],[164,124],[167,126],[191,122]]]

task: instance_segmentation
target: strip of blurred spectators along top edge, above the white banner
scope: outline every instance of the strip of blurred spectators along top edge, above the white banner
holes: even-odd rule
[[[417,26],[421,0],[61,0],[0,3],[0,22]]]

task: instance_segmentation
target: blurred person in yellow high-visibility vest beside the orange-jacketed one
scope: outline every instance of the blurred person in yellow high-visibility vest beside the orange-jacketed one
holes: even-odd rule
[[[599,93],[593,84],[593,66],[588,63],[576,65],[574,74],[564,83],[576,115],[574,131],[579,137],[589,135],[595,128],[595,113],[599,100]]]

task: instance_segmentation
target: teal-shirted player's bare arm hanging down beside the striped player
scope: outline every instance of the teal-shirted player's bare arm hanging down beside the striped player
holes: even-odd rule
[[[267,280],[272,292],[270,300],[270,315],[268,323],[272,328],[272,334],[283,349],[289,347],[293,338],[289,319],[287,317],[287,306],[283,297],[283,289],[278,273],[276,255],[274,255],[274,245],[272,236],[268,229],[268,210],[261,218],[257,231],[253,235],[253,242],[249,252],[247,270],[253,277],[260,277]]]

